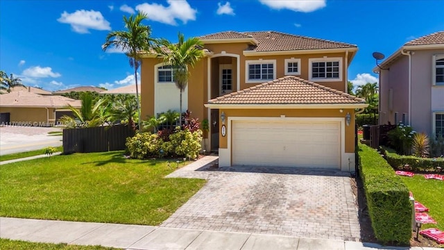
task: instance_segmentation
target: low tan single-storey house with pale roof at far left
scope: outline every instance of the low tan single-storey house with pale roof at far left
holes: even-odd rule
[[[80,108],[78,100],[61,96],[40,95],[32,92],[10,92],[0,97],[0,124],[16,126],[53,126],[62,115],[67,115],[70,104]]]

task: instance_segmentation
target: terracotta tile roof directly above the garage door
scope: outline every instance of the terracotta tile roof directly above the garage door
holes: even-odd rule
[[[208,101],[210,104],[353,104],[364,99],[327,88],[318,83],[285,76],[223,97]]]

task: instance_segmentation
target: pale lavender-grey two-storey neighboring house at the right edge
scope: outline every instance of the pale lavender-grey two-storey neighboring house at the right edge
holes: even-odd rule
[[[444,31],[411,40],[379,67],[379,124],[444,136]]]

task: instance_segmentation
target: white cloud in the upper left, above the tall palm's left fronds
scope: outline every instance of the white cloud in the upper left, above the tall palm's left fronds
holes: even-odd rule
[[[89,33],[89,29],[98,31],[110,31],[111,26],[100,11],[76,10],[74,13],[64,11],[58,22],[71,24],[71,28],[77,33]]]

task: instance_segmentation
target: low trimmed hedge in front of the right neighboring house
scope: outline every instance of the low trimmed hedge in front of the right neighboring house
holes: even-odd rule
[[[444,158],[420,158],[416,156],[400,156],[398,153],[382,148],[387,163],[397,170],[409,170],[413,172],[439,172],[444,169]],[[408,167],[405,165],[409,165]],[[442,170],[441,170],[442,171]]]

